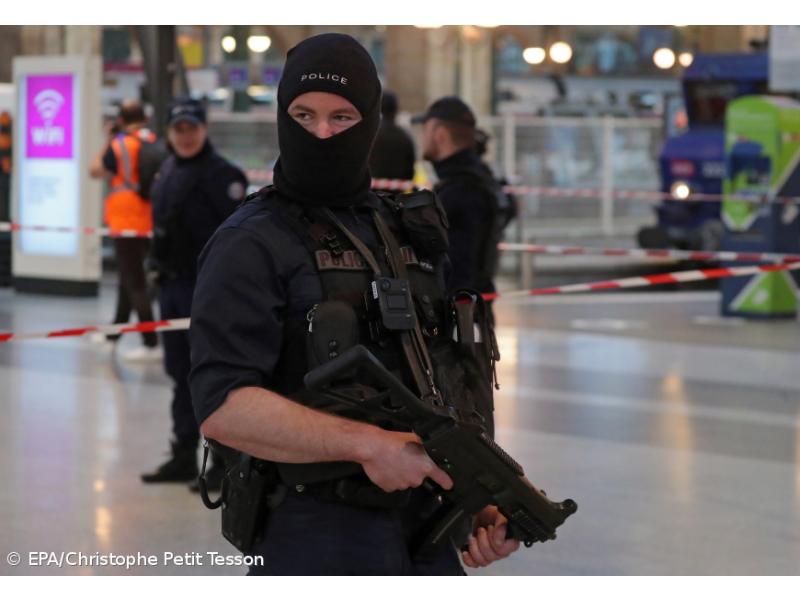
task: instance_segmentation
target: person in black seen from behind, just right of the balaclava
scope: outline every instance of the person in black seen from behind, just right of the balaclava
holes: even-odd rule
[[[381,124],[372,147],[369,171],[374,179],[414,179],[414,141],[405,129],[395,123],[397,96],[383,91]]]

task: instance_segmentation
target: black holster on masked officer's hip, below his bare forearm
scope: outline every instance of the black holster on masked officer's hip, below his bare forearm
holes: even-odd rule
[[[246,454],[227,470],[223,486],[222,535],[248,554],[264,531],[270,502],[277,506],[285,490],[278,489],[273,463]]]

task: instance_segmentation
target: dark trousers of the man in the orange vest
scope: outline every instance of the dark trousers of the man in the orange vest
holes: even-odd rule
[[[147,278],[144,273],[144,259],[150,248],[147,238],[115,238],[114,252],[119,271],[117,290],[117,310],[114,323],[127,323],[131,312],[136,311],[139,321],[153,320],[153,307],[147,293]],[[118,339],[118,335],[110,335],[109,339]],[[152,331],[143,332],[145,346],[151,348],[158,345],[158,336]]]

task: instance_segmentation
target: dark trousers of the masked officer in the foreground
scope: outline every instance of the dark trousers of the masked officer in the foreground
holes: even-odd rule
[[[248,575],[464,575],[451,546],[424,558],[409,555],[408,517],[292,491],[269,516],[253,553],[264,565]]]

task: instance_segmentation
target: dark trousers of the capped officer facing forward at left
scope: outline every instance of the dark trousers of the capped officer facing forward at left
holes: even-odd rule
[[[175,279],[161,284],[158,302],[162,319],[183,319],[192,311],[194,280]],[[181,446],[197,446],[200,430],[189,393],[189,332],[165,331],[164,370],[172,379],[172,433]]]

